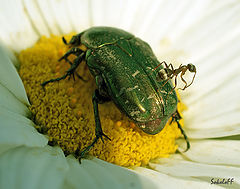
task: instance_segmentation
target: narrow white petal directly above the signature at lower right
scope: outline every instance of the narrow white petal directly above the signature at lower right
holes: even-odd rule
[[[207,165],[202,163],[190,162],[173,158],[158,159],[158,163],[150,163],[150,167],[161,173],[165,173],[177,177],[198,177],[198,178],[234,178],[238,187],[240,187],[240,168],[223,166],[223,165]]]

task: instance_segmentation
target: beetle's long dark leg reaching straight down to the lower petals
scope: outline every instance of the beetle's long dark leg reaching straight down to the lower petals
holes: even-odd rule
[[[104,142],[103,140],[103,136],[106,137],[108,140],[111,140],[107,135],[105,135],[102,131],[102,126],[101,126],[101,122],[100,122],[100,116],[99,116],[99,112],[98,112],[98,104],[102,104],[106,101],[109,101],[110,99],[107,97],[104,97],[102,95],[99,94],[98,89],[95,90],[95,92],[93,93],[93,97],[92,97],[92,103],[93,103],[93,110],[94,110],[94,117],[95,117],[95,135],[96,137],[94,138],[93,142],[87,146],[80,154],[79,154],[79,162],[81,163],[81,158],[84,157],[84,155],[94,146],[94,144],[98,141],[98,139],[101,138],[102,142]]]

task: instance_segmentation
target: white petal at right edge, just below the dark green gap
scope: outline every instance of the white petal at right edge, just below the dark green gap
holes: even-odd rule
[[[240,165],[239,140],[192,140],[184,157],[200,163]]]

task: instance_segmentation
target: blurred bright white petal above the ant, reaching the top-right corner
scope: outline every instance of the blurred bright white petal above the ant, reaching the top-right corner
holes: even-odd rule
[[[224,6],[204,14],[201,20],[195,21],[175,42],[196,60],[198,59],[196,57],[210,52],[222,41],[226,41],[234,34],[235,30],[239,32],[237,24],[240,16],[239,10],[240,5],[237,1],[226,3]]]

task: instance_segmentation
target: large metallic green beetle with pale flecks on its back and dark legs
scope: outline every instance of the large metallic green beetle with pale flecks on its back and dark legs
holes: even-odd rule
[[[147,134],[159,133],[172,117],[187,142],[187,149],[190,148],[179,123],[181,117],[177,111],[178,99],[175,90],[172,90],[173,84],[170,79],[166,82],[159,77],[159,71],[164,68],[146,42],[112,27],[92,27],[74,35],[69,43],[63,37],[63,42],[69,45],[70,50],[59,61],[66,60],[71,67],[62,77],[50,79],[41,85],[44,87],[50,82],[74,76],[83,60],[97,84],[92,96],[96,137],[80,152],[79,160],[100,138],[102,141],[103,137],[110,140],[102,131],[98,112],[98,104],[110,100]],[[73,62],[68,59],[71,54],[76,56]]]

